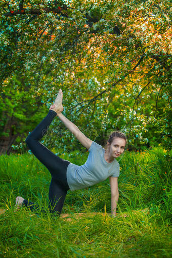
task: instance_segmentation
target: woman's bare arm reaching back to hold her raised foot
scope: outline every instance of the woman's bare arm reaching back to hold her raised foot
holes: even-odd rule
[[[69,121],[62,113],[58,113],[57,116],[60,118],[60,120],[64,123],[64,125],[72,132],[72,134],[77,138],[77,140],[87,149],[90,149],[90,146],[92,145],[92,140],[87,138],[84,134],[82,134],[79,130],[79,128]]]

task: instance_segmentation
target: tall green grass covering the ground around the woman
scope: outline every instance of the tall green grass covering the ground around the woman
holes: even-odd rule
[[[81,165],[88,152],[61,157]],[[32,154],[0,157],[0,257],[171,257],[171,168],[162,148],[126,152],[120,159],[117,213],[67,221],[48,212],[50,173]],[[46,207],[14,213],[16,196]],[[62,213],[110,212],[109,179],[68,191]],[[149,207],[150,213],[141,212]],[[138,212],[133,212],[137,210]]]

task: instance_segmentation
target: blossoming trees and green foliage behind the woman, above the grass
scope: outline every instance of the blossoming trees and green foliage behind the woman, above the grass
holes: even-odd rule
[[[63,114],[97,143],[120,130],[128,150],[170,150],[170,1],[3,0],[0,7],[1,154],[27,149],[25,138],[59,89]],[[58,119],[41,142],[83,149]]]

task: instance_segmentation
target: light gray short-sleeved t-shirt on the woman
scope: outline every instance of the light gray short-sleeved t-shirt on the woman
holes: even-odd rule
[[[119,163],[115,158],[113,162],[108,163],[104,154],[105,149],[92,142],[88,159],[83,165],[68,165],[67,182],[71,191],[93,186],[108,177],[119,177]]]

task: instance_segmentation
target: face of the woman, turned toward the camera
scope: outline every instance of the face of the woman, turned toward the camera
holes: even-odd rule
[[[124,139],[114,138],[111,144],[108,143],[109,154],[114,158],[119,157],[124,152],[125,144]]]

